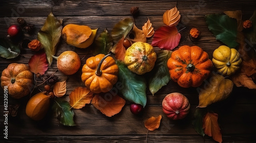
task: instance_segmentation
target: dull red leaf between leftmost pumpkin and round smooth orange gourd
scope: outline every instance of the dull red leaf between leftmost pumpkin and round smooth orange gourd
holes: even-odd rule
[[[46,53],[41,52],[33,55],[29,60],[29,70],[34,74],[44,75],[48,69],[48,63],[46,59]]]

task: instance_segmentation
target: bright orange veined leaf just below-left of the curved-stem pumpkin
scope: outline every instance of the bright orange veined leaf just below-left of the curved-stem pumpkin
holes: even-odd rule
[[[93,99],[93,92],[86,87],[77,87],[69,94],[69,104],[74,109],[81,109],[90,104]]]

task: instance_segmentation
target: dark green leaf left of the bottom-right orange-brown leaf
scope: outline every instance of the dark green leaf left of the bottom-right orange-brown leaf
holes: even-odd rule
[[[192,125],[196,132],[202,136],[205,135],[204,129],[203,129],[203,117],[206,114],[205,108],[197,108],[194,117],[195,119],[192,121]]]

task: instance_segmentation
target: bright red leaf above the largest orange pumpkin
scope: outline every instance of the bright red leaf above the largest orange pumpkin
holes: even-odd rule
[[[179,45],[181,35],[176,27],[163,26],[156,30],[151,45],[160,49],[173,50]]]

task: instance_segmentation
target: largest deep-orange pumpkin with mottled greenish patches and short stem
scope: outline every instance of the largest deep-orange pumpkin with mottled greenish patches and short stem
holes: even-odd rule
[[[209,76],[212,62],[199,46],[184,45],[167,61],[170,78],[181,87],[198,87]]]

